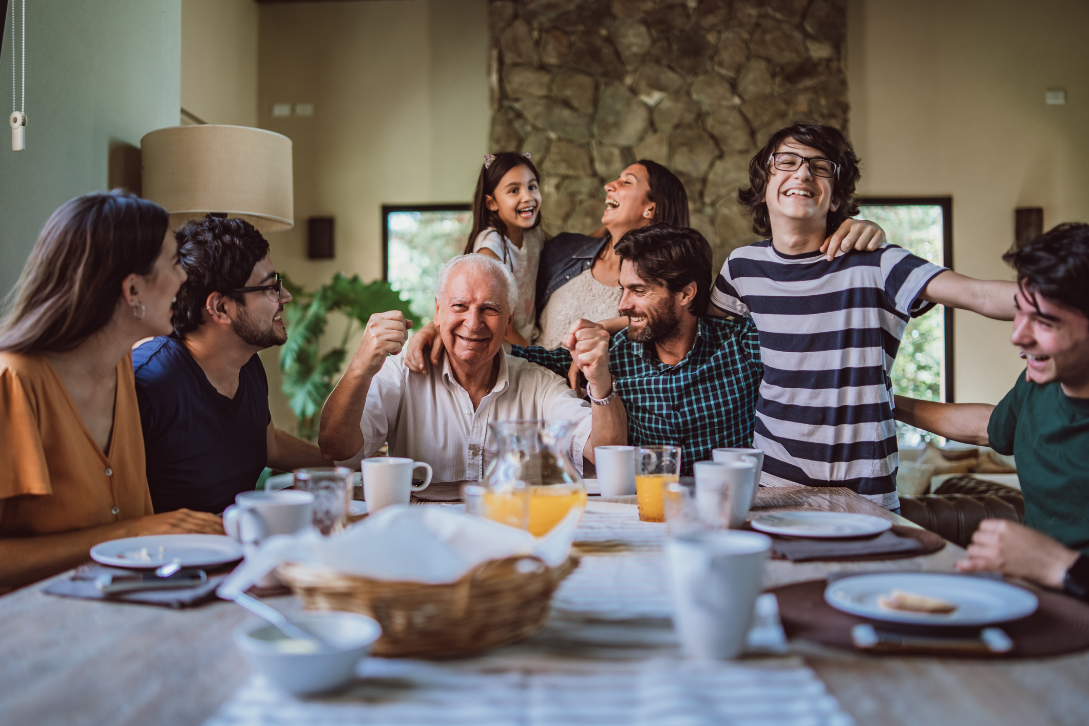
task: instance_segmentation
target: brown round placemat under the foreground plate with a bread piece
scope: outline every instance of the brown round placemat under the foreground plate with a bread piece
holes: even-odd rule
[[[824,602],[827,580],[796,582],[770,590],[779,599],[779,613],[787,638],[809,640],[855,650],[851,642],[851,628],[859,623],[876,623],[848,615]],[[1054,592],[1032,590],[1040,599],[1040,607],[1028,617],[998,624],[1014,641],[1014,649],[1004,654],[946,654],[920,653],[928,657],[1044,657],[1089,650],[1089,605]],[[896,627],[881,624],[882,626]],[[916,628],[921,630],[921,628]],[[941,626],[925,628],[927,632],[941,632]],[[885,653],[871,651],[872,655]],[[894,653],[903,656],[907,653]]]

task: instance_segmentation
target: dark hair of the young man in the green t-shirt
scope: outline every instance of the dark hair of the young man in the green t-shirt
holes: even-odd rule
[[[1002,259],[1018,283],[1089,318],[1089,224],[1064,222]]]

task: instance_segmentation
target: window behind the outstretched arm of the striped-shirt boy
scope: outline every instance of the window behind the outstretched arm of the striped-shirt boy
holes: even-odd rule
[[[935,264],[952,264],[952,200],[861,199],[859,219],[877,222],[889,242]],[[953,401],[953,315],[938,305],[913,318],[892,369],[893,392],[921,401]],[[901,446],[918,446],[937,438],[896,424]]]

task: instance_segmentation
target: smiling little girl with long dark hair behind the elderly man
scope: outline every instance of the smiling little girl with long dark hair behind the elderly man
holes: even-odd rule
[[[546,238],[541,230],[540,175],[528,153],[486,153],[473,195],[473,230],[465,254],[492,257],[514,273],[518,303],[512,311],[514,345],[529,345],[537,322],[537,266]]]

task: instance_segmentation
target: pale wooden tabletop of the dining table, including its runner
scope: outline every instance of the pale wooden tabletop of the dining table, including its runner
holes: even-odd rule
[[[449,500],[455,491],[436,487],[432,496]],[[534,688],[548,692],[548,687],[560,688],[555,684],[563,678],[568,678],[563,688],[570,689],[579,681],[597,682],[595,675],[605,674],[613,684],[631,679],[627,693],[632,698],[639,682],[666,676],[697,681],[705,666],[681,656],[668,603],[662,600],[669,590],[662,556],[665,525],[639,521],[632,504],[596,500],[590,497],[575,537],[580,565],[555,593],[551,619],[541,632],[523,643],[461,661],[414,665],[417,670],[405,673],[466,678],[462,690],[481,694],[477,698],[492,692],[501,698],[503,689],[515,688],[511,684],[525,689],[530,677],[538,678],[531,681]],[[442,506],[436,501],[420,504]],[[834,487],[761,488],[749,517],[795,510],[868,514],[914,527],[853,491]],[[841,573],[950,573],[963,556],[960,547],[945,543],[938,552],[898,559],[769,559],[763,586],[774,589]],[[375,673],[382,674],[369,685],[365,669],[365,677],[346,693],[328,699],[279,696],[252,677],[232,641],[232,631],[253,617],[236,604],[212,601],[171,610],[59,598],[44,592],[51,579],[0,598],[0,724],[363,723],[360,716],[367,709],[387,707],[406,692],[403,682],[396,686],[405,680],[397,680],[403,664],[369,659]],[[268,602],[289,615],[301,610],[291,595]],[[587,616],[590,611],[597,615]],[[830,709],[829,719],[812,723],[1089,723],[1089,653],[1085,652],[1041,659],[965,659],[867,654],[792,640],[779,650],[706,667],[738,668],[721,670],[723,677],[764,668],[799,678],[798,682],[817,689],[815,699],[828,699],[821,703]],[[542,674],[554,677],[540,680]],[[592,702],[600,691],[586,688],[579,698]],[[821,696],[825,689],[827,696]],[[453,707],[443,711],[436,705],[431,716],[418,723],[467,723],[457,721],[455,713]],[[658,723],[653,717],[644,721]]]

